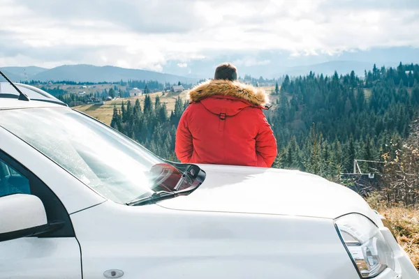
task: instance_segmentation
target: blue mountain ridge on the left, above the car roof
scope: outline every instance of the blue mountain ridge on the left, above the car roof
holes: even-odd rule
[[[29,67],[0,68],[13,82],[22,80],[61,81],[72,82],[119,82],[120,80],[157,80],[161,83],[195,83],[196,79],[180,77],[150,70],[135,70],[114,66],[64,65],[52,69]],[[0,81],[4,81],[0,78]]]

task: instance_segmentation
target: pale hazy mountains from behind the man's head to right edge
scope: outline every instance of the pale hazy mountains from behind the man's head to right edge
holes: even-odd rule
[[[351,73],[363,77],[364,70],[372,70],[374,63],[394,67],[402,63],[419,63],[419,48],[416,47],[373,47],[368,50],[347,50],[337,54],[319,52],[317,54],[295,55],[286,50],[260,50],[257,52],[220,52],[203,59],[189,61],[168,60],[163,71],[182,77],[212,77],[219,63],[231,62],[237,66],[240,76],[281,77],[288,75],[307,75],[310,70],[316,74],[339,75]]]

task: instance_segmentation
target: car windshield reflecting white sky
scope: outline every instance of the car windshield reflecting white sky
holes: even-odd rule
[[[147,197],[156,181],[173,190],[182,176],[128,137],[68,108],[0,110],[0,126],[114,202]]]

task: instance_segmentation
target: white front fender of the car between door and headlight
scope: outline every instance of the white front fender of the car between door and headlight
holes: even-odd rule
[[[333,220],[105,202],[74,213],[84,278],[356,278]],[[327,264],[325,264],[327,263]]]

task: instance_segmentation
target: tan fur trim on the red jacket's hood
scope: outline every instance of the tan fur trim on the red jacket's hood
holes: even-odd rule
[[[268,103],[265,90],[237,81],[230,82],[229,80],[207,80],[202,82],[189,91],[189,100],[196,103],[214,95],[241,98],[255,106],[263,107]]]

